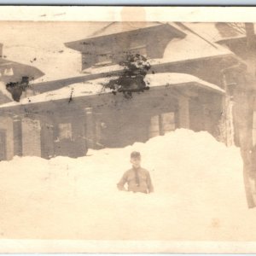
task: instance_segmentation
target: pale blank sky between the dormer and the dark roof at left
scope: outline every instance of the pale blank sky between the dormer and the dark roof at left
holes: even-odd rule
[[[106,22],[0,21],[0,26],[3,55],[38,67],[46,74],[42,77],[46,81],[78,75],[81,55],[64,43],[86,38]]]

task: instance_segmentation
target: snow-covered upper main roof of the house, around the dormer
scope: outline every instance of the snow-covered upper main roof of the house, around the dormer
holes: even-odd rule
[[[111,35],[111,32],[118,32],[121,29],[121,25],[125,22],[112,22],[109,23],[108,26],[102,28],[102,30],[92,34],[91,37],[102,37],[105,35]],[[126,31],[131,29],[137,29],[138,27],[146,26],[160,26],[162,23],[160,22],[126,22]],[[202,23],[198,25],[195,23],[177,23],[177,22],[169,22],[167,26],[172,26],[177,31],[182,32],[186,35],[183,38],[173,38],[166,46],[164,51],[163,58],[160,59],[149,59],[148,61],[154,67],[158,65],[176,65],[178,63],[186,63],[190,61],[200,61],[202,59],[212,59],[212,58],[225,58],[228,56],[233,56],[236,58],[233,52],[230,49],[225,48],[222,45],[215,44],[211,42],[211,38],[205,37],[205,35],[201,35],[201,31],[206,32],[208,31],[208,27],[214,27],[214,24],[211,23],[203,23],[204,26],[201,26]],[[133,25],[133,26],[132,26]],[[166,23],[165,23],[166,26]],[[194,26],[200,26],[201,30],[194,31]],[[119,30],[117,29],[119,27]],[[128,29],[129,28],[129,29]],[[124,29],[124,28],[122,28]],[[212,35],[212,32],[210,32]],[[83,40],[80,40],[84,42]],[[79,41],[76,41],[79,42]],[[32,81],[31,84],[34,84],[35,88],[38,88],[39,91],[46,91],[46,90],[55,90],[57,88],[61,88],[67,86],[67,84],[74,84],[80,82],[79,80],[86,79],[85,75],[89,77],[92,75],[94,77],[107,75],[107,73],[117,73],[120,72],[124,67],[119,66],[118,64],[110,65],[110,66],[103,66],[103,67],[89,67],[82,71],[82,73],[78,74],[76,78],[71,78],[70,75],[66,77],[66,79],[58,79],[55,81],[48,81],[47,79],[43,83],[37,83],[38,80]],[[63,69],[64,70],[64,69]],[[43,78],[44,79],[44,78]],[[93,78],[96,79],[96,78]],[[39,88],[40,87],[40,88]],[[52,87],[52,88],[51,88]]]

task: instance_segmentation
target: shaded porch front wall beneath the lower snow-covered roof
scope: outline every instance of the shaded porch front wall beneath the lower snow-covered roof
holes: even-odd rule
[[[20,155],[46,159],[57,155],[79,157],[88,148],[121,148],[135,142],[144,143],[150,137],[177,128],[215,135],[221,98],[204,90],[163,86],[134,93],[131,99],[123,94],[102,94],[73,98],[72,102],[27,105],[18,115],[20,126],[15,122],[15,150],[18,152],[20,145]],[[27,113],[31,115],[29,118]],[[19,127],[21,136],[18,136]]]

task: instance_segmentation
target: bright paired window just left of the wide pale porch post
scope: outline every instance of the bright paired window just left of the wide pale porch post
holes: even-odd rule
[[[175,128],[174,112],[154,115],[150,119],[149,137],[165,135],[166,132],[174,131]]]

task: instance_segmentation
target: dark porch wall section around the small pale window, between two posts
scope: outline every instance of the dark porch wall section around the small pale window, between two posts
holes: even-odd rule
[[[46,159],[57,155],[79,157],[87,153],[84,107],[67,104],[49,104],[42,107],[44,113],[38,113],[42,124],[41,154]]]

